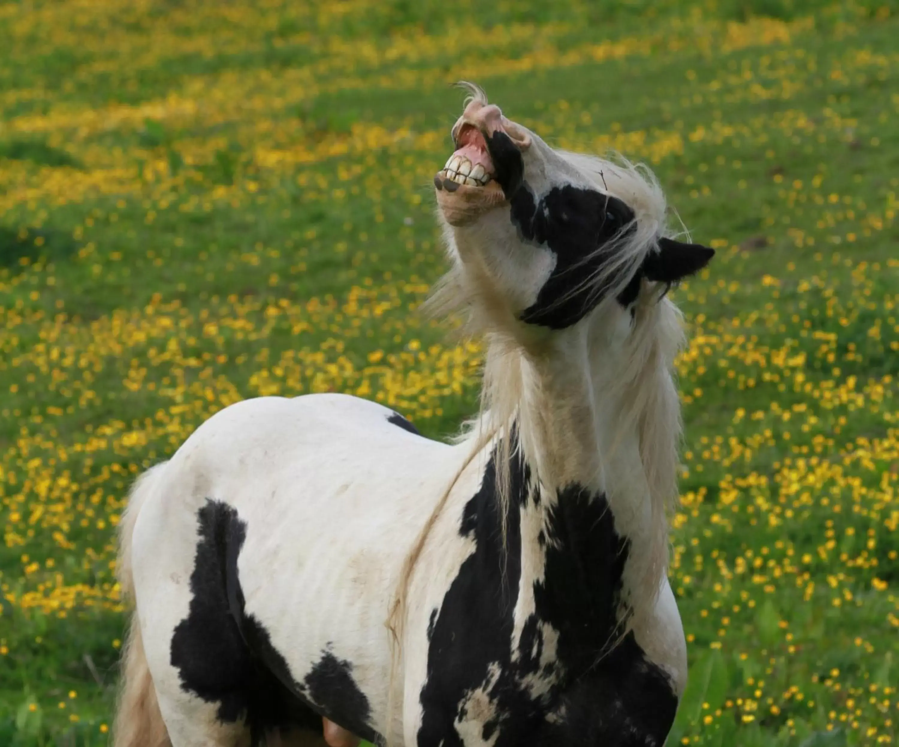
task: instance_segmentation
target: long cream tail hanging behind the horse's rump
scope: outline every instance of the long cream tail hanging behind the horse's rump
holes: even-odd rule
[[[165,730],[156,688],[140,634],[140,621],[134,606],[134,575],[131,568],[131,538],[138,514],[163,474],[165,464],[147,470],[131,489],[128,505],[119,522],[119,557],[116,576],[122,600],[132,607],[130,627],[122,649],[119,704],[113,726],[113,747],[172,747]]]

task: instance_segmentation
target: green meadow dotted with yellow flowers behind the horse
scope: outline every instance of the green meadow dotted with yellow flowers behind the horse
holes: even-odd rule
[[[131,481],[239,399],[445,436],[460,78],[696,240],[669,744],[895,744],[899,2],[0,0],[0,745],[107,743]]]

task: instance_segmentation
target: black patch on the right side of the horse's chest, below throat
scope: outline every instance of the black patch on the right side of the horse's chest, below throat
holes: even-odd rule
[[[547,723],[533,744],[661,747],[677,711],[671,683],[632,633],[618,642],[630,542],[615,530],[606,497],[580,485],[560,492],[549,519],[553,542],[534,596],[539,618],[559,633],[556,654],[570,685],[556,704],[565,716]]]

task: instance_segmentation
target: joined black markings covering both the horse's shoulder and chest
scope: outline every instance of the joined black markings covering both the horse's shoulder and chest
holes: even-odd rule
[[[529,467],[512,457],[503,556],[496,455],[460,520],[460,533],[474,539],[476,548],[459,568],[432,627],[419,747],[461,747],[455,724],[467,716],[482,721],[485,740],[495,734],[494,747],[662,745],[677,698],[634,637],[621,637],[618,609],[629,542],[616,532],[604,495],[581,485],[558,494],[547,516],[544,578],[534,584],[536,609],[523,622],[513,660],[521,506],[537,501],[528,495]],[[556,657],[541,664],[545,626],[556,631]],[[522,684],[530,675],[556,683],[533,698]],[[494,707],[492,716],[466,713],[466,698],[478,689]]]

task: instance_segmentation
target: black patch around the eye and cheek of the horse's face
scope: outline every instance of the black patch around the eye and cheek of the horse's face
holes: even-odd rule
[[[556,266],[521,321],[550,329],[574,325],[619,281],[617,275],[599,286],[592,280],[610,259],[603,247],[633,230],[634,211],[617,197],[571,184],[553,187],[537,200],[524,182],[511,201],[521,240],[556,254]]]

